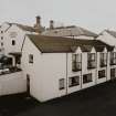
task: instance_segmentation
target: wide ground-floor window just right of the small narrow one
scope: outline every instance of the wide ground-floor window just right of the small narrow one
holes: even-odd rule
[[[68,77],[68,87],[80,85],[80,76]]]

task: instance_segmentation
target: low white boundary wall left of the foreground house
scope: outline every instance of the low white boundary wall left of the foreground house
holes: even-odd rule
[[[22,72],[0,75],[0,96],[27,92],[27,80]]]

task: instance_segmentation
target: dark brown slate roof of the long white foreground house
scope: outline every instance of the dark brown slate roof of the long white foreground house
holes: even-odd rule
[[[77,46],[81,46],[83,52],[89,52],[93,46],[97,52],[102,52],[105,46],[108,51],[114,49],[99,40],[76,40],[34,34],[28,34],[28,36],[42,53],[70,53],[75,52]]]

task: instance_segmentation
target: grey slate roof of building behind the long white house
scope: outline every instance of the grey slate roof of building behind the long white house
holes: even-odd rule
[[[80,36],[80,35],[86,35],[86,36],[94,36],[96,38],[97,34],[94,32],[91,32],[88,30],[85,30],[80,27],[62,27],[62,28],[55,28],[53,30],[48,29],[42,33],[42,35],[50,35],[50,36]]]

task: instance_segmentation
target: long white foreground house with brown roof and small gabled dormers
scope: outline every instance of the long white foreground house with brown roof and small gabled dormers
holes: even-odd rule
[[[98,40],[29,34],[21,60],[28,92],[44,102],[115,78],[115,55],[113,46]]]

